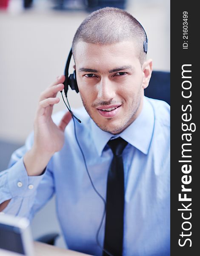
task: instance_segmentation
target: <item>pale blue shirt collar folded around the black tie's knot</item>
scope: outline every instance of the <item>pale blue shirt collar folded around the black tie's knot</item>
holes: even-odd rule
[[[104,147],[111,137],[121,137],[144,154],[148,153],[154,130],[155,117],[153,107],[149,100],[146,97],[143,99],[143,109],[140,115],[131,125],[116,136],[109,132],[102,131],[93,120],[91,120],[91,133],[99,156],[101,156]]]

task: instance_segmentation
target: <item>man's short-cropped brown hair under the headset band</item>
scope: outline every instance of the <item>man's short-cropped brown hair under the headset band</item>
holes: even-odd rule
[[[146,53],[143,49],[146,34],[143,27],[128,12],[118,8],[105,7],[92,12],[80,24],[74,35],[72,52],[75,55],[76,44],[80,41],[108,45],[129,40],[135,42],[137,57],[142,65],[146,60]]]

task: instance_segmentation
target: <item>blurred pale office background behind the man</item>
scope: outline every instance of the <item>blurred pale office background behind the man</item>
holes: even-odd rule
[[[63,74],[76,29],[105,6],[125,9],[139,20],[154,70],[169,71],[169,0],[0,0],[0,171],[31,132],[40,93]],[[79,94],[70,89],[68,96],[72,108],[82,106]],[[64,108],[60,100],[54,112]],[[32,222],[34,238],[60,233],[55,216],[53,198]],[[65,247],[62,236],[57,245]]]

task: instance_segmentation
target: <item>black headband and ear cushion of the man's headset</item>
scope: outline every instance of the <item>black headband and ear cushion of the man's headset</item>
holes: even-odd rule
[[[137,20],[137,22],[140,24],[140,22]],[[143,26],[140,24],[140,26],[143,28]],[[143,31],[145,32],[146,35],[146,31],[143,28]],[[148,38],[146,35],[146,41],[143,42],[143,49],[144,52],[147,53],[147,49],[148,49]],[[75,90],[77,93],[79,92],[78,89],[78,84],[77,84],[77,79],[76,79],[76,70],[74,70],[73,74],[69,75],[69,63],[71,60],[71,55],[72,55],[72,49],[69,52],[68,58],[67,58],[67,63],[66,63],[66,67],[65,67],[65,81],[64,81],[64,92],[65,92],[65,96],[67,98],[67,92],[69,89],[69,86],[71,87],[71,90]]]

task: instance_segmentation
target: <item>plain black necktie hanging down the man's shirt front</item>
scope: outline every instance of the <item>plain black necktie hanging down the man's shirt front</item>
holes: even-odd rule
[[[127,142],[122,138],[109,140],[114,156],[108,172],[106,194],[106,227],[104,249],[113,256],[123,252],[123,214],[124,214],[124,172],[122,152]],[[103,256],[108,256],[103,252]]]

